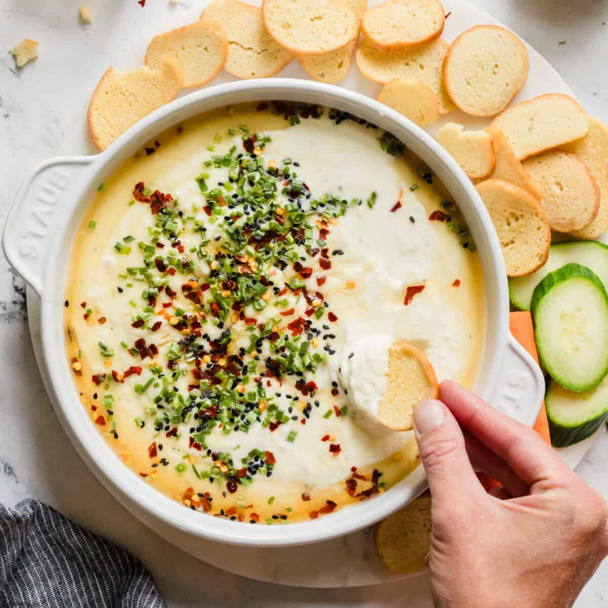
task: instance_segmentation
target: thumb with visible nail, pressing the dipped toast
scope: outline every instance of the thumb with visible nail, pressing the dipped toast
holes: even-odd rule
[[[413,426],[437,508],[447,509],[471,494],[485,496],[466,453],[462,430],[441,401],[421,401],[414,409]]]

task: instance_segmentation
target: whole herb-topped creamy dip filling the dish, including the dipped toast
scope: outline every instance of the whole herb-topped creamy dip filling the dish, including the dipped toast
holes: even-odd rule
[[[472,387],[483,353],[458,209],[395,137],[335,109],[233,106],[160,134],[99,185],[68,276],[92,424],[140,483],[230,520],[387,491],[419,463],[395,378],[404,401]]]

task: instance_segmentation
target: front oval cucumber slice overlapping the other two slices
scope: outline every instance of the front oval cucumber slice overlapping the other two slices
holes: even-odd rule
[[[592,389],[608,373],[608,294],[580,264],[550,272],[531,303],[538,355],[564,389]]]

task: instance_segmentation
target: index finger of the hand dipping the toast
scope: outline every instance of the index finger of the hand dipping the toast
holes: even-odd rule
[[[493,409],[456,382],[444,380],[439,391],[458,424],[503,458],[528,485],[554,477],[556,472],[570,472],[533,429]]]

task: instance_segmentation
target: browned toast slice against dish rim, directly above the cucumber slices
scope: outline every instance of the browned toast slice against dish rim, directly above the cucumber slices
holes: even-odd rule
[[[477,184],[505,258],[506,274],[523,277],[541,268],[551,245],[551,228],[541,204],[522,188],[499,179]]]

